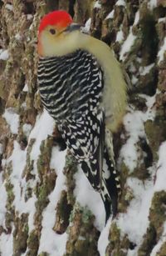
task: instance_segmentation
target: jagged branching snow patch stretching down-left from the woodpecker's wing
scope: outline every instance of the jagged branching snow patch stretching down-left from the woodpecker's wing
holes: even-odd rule
[[[22,178],[22,172],[26,166],[27,160],[27,148],[22,150],[17,141],[14,141],[14,148],[12,155],[7,159],[7,163],[12,163],[12,173],[10,175],[11,183],[13,185],[13,193],[15,195],[13,205],[19,214],[29,213],[28,216],[28,227],[29,232],[34,228],[33,218],[36,213],[35,203],[37,201],[36,195],[32,193],[32,198],[29,198],[25,202],[25,195],[27,193],[27,188],[34,188],[37,184],[37,158],[40,151],[41,141],[47,138],[48,134],[51,134],[54,127],[53,119],[44,111],[41,115],[37,117],[37,122],[30,133],[32,128],[29,124],[24,124],[23,131],[29,135],[29,142],[31,138],[36,138],[35,143],[32,146],[31,160],[34,160],[33,172],[36,174],[36,178],[33,180],[26,181],[26,178]]]

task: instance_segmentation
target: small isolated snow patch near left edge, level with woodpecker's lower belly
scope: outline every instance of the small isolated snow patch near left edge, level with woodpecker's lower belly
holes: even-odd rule
[[[5,118],[11,132],[13,134],[17,134],[19,127],[19,115],[14,112],[14,108],[6,108],[2,117]]]

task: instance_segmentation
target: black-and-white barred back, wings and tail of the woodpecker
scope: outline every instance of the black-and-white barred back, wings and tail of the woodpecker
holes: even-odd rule
[[[111,200],[115,215],[119,184],[105,143],[105,112],[101,107],[105,82],[99,63],[81,49],[61,57],[41,57],[38,82],[41,102],[91,185],[101,193],[106,219]]]

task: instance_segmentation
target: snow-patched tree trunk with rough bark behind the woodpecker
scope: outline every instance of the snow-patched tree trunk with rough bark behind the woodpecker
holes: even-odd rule
[[[106,227],[38,93],[37,28],[58,8],[88,20],[132,84],[114,134],[119,214]],[[166,255],[165,11],[164,0],[0,1],[0,255]]]

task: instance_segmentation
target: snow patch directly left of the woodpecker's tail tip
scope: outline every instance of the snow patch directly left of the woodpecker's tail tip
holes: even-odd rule
[[[90,209],[95,215],[95,227],[101,231],[105,226],[105,208],[100,193],[96,192],[94,188],[91,187],[90,182],[85,177],[85,173],[83,173],[80,167],[75,174],[75,178],[76,188],[74,194],[76,201],[79,202],[81,206],[87,206]]]

